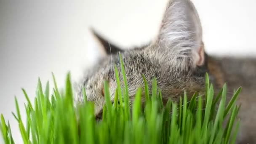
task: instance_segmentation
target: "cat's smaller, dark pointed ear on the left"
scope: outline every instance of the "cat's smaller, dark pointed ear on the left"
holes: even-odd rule
[[[98,32],[96,32],[95,29],[90,28],[90,32],[93,35],[94,40],[96,40],[98,47],[103,50],[105,54],[110,55],[123,51],[123,49],[117,47],[102,37]]]

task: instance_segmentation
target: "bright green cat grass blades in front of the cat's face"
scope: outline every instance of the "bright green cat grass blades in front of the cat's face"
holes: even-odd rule
[[[235,117],[239,107],[235,105],[239,88],[229,103],[226,102],[227,86],[224,85],[218,95],[214,96],[213,85],[206,75],[205,96],[195,93],[181,97],[179,104],[169,99],[164,106],[161,91],[157,89],[156,80],[152,80],[152,94],[148,83],[138,88],[133,107],[129,107],[128,84],[124,75],[124,88],[117,77],[115,101],[109,98],[109,85],[104,83],[105,102],[102,121],[94,118],[94,104],[74,107],[70,74],[67,75],[66,88],[61,93],[54,80],[53,94],[49,93],[49,83],[43,91],[38,80],[37,96],[32,101],[27,96],[25,110],[26,122],[21,120],[19,104],[16,101],[16,113],[19,130],[24,144],[228,144],[234,143],[239,122]],[[123,90],[122,90],[123,89]],[[145,107],[142,109],[141,93],[145,91]],[[122,93],[123,92],[123,93]],[[83,90],[86,99],[86,92]],[[118,103],[119,101],[119,103]],[[227,104],[226,104],[227,103]],[[217,107],[217,108],[216,108]],[[222,126],[224,120],[227,125]],[[79,125],[79,127],[77,126]],[[5,144],[14,144],[10,124],[1,115],[0,130]]]

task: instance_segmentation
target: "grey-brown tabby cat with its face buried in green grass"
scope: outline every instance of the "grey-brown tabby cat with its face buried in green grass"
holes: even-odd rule
[[[187,91],[188,96],[205,91],[205,73],[209,74],[215,89],[227,83],[228,98],[240,86],[237,104],[241,104],[238,117],[240,132],[238,144],[256,144],[256,59],[218,57],[204,51],[202,26],[195,6],[190,0],[170,0],[160,26],[159,34],[150,43],[135,48],[119,48],[109,43],[94,29],[91,32],[104,49],[106,56],[99,60],[77,91],[77,103],[83,103],[82,87],[88,101],[95,102],[95,115],[101,118],[104,105],[104,80],[109,82],[111,100],[117,88],[114,65],[120,70],[119,52],[123,56],[125,74],[129,85],[130,99],[136,90],[144,87],[142,75],[149,82],[157,78],[165,103],[171,97],[179,101]],[[122,81],[122,77],[120,77]],[[144,101],[144,99],[142,98]]]

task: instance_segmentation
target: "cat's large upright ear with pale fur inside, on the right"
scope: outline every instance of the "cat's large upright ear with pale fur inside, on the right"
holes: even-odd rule
[[[176,59],[193,67],[205,63],[202,27],[195,6],[190,0],[168,2],[160,32],[159,48],[168,48]]]

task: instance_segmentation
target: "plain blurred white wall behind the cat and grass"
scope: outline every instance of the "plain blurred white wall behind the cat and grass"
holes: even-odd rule
[[[17,144],[22,143],[21,136],[11,111],[15,111],[14,95],[23,106],[21,87],[33,98],[38,77],[45,85],[54,72],[63,86],[70,70],[76,80],[99,56],[87,47],[89,26],[123,47],[146,43],[157,34],[166,2],[0,0],[0,113],[13,125]],[[208,53],[255,56],[255,0],[193,2]]]

